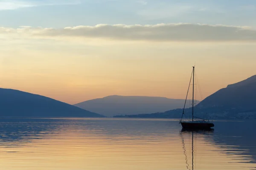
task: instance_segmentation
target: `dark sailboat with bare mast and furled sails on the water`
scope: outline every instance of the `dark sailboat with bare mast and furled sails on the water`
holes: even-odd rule
[[[207,119],[198,118],[198,117],[194,116],[195,66],[193,66],[191,78],[190,78],[190,81],[189,81],[189,87],[190,87],[190,84],[191,84],[192,77],[193,77],[193,84],[192,84],[193,85],[192,120],[186,120],[186,121],[183,120],[184,110],[185,110],[185,106],[186,106],[186,100],[187,100],[187,97],[188,97],[188,94],[189,94],[189,89],[188,89],[185,104],[184,104],[184,107],[183,107],[182,116],[181,116],[181,119],[180,119],[180,124],[182,125],[182,127],[184,129],[202,129],[202,130],[210,129],[211,127],[214,127],[214,124],[212,122],[210,122]],[[199,120],[197,120],[197,119],[199,119]]]

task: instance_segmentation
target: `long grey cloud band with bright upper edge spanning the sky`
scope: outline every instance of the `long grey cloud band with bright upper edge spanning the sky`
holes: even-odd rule
[[[18,29],[0,27],[0,35],[23,37],[81,37],[110,40],[146,41],[256,41],[256,30],[246,26],[225,26],[192,23],[169,23],[157,25],[108,25],[76,26],[63,29]]]

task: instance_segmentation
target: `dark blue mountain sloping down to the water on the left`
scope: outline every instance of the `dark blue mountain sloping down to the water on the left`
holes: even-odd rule
[[[0,116],[104,117],[41,95],[0,88]]]

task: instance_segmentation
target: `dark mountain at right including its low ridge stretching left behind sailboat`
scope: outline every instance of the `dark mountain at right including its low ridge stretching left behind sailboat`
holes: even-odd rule
[[[185,115],[191,108],[185,109]],[[125,115],[130,118],[180,118],[182,109],[162,113]],[[256,75],[220,89],[195,106],[201,118],[256,118]]]

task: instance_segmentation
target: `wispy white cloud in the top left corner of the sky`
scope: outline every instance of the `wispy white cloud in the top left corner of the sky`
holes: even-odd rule
[[[12,10],[34,6],[79,4],[80,0],[0,0],[0,10]]]

